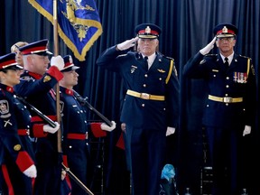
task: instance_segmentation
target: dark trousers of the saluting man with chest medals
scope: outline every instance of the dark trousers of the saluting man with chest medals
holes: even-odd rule
[[[213,171],[212,194],[237,194],[241,176],[241,127],[206,127],[209,163]]]

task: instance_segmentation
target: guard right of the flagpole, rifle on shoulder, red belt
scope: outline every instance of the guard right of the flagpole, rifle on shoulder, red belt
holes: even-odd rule
[[[65,66],[61,70],[63,79],[60,80],[60,108],[63,124],[63,163],[70,168],[79,181],[88,186],[90,183],[90,153],[88,145],[88,128],[96,137],[106,136],[104,131],[112,131],[116,128],[116,123],[112,121],[112,126],[105,123],[88,123],[87,107],[82,106],[78,98],[75,98],[73,87],[78,84],[79,74],[70,55],[63,57]],[[104,131],[103,131],[104,130]],[[68,180],[68,176],[66,177]],[[71,195],[87,194],[79,187],[75,181],[71,182]]]

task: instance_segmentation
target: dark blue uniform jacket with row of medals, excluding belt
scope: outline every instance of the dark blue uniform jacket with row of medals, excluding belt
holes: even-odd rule
[[[198,52],[186,63],[183,74],[192,79],[205,79],[211,96],[243,98],[243,102],[229,104],[208,99],[204,125],[220,128],[254,125],[255,70],[250,58],[235,53],[227,70],[220,54],[204,57]]]

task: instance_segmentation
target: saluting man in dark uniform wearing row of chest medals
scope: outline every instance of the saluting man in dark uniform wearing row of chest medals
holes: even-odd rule
[[[245,162],[239,158],[241,141],[255,123],[255,70],[250,58],[234,51],[235,25],[220,23],[213,32],[213,40],[190,58],[183,75],[205,79],[209,87],[202,123],[213,168],[212,194],[239,194],[246,188],[245,167],[240,166]],[[218,54],[209,54],[215,42]]]

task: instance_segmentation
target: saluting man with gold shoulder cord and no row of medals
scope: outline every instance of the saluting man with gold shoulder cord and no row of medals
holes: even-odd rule
[[[132,192],[159,194],[166,135],[179,122],[179,81],[173,59],[157,51],[161,28],[135,27],[137,36],[104,51],[98,66],[119,72],[126,91],[121,123],[129,147]],[[137,51],[129,51],[137,42]]]

